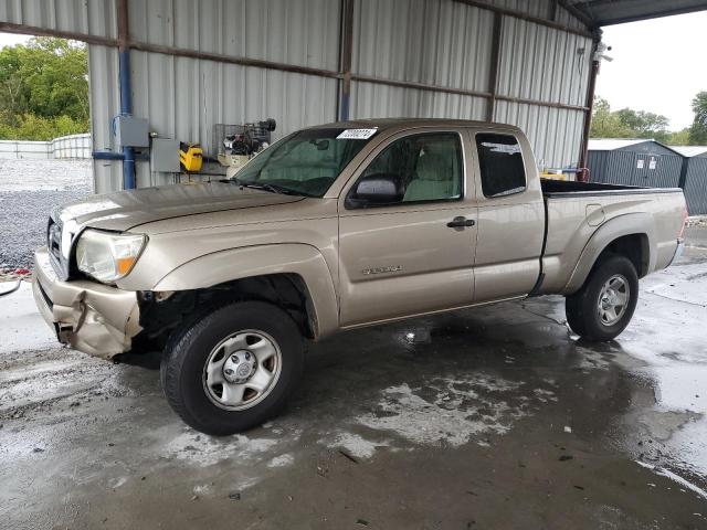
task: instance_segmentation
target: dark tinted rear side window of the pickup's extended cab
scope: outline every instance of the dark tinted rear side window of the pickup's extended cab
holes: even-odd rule
[[[509,135],[476,135],[476,150],[485,197],[504,197],[526,189],[526,171],[518,140]]]

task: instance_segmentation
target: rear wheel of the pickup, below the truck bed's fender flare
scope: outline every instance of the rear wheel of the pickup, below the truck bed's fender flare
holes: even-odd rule
[[[610,256],[590,273],[584,285],[567,297],[567,322],[577,335],[606,341],[619,336],[639,301],[639,275],[630,259]]]

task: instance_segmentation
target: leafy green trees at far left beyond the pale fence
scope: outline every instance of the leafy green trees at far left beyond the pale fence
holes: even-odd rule
[[[54,38],[0,50],[0,139],[89,129],[86,46]]]

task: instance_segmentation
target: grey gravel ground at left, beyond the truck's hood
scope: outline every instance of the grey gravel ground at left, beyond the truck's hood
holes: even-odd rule
[[[31,268],[49,212],[92,191],[91,160],[0,160],[0,273]]]

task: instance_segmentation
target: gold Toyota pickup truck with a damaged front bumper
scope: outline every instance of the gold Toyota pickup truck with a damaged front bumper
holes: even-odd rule
[[[286,403],[304,339],[344,329],[561,294],[574,332],[613,339],[686,216],[679,189],[541,181],[515,127],[337,123],[232,180],[57,209],[34,297],[77,350],[162,349],[170,405],[229,434]]]

